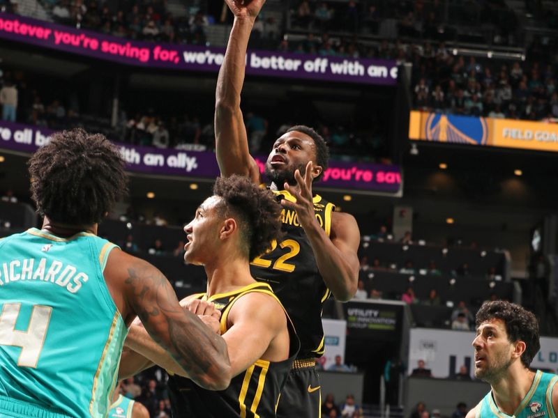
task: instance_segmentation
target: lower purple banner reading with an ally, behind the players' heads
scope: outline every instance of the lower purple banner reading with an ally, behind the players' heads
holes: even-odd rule
[[[43,127],[0,121],[0,149],[31,154],[40,146],[48,144],[52,132],[54,131]],[[211,179],[218,177],[220,173],[215,153],[211,151],[185,151],[119,143],[116,145],[119,146],[129,171]],[[266,156],[259,155],[255,160],[263,174]],[[401,171],[395,165],[332,160],[316,186],[324,189],[398,194]]]

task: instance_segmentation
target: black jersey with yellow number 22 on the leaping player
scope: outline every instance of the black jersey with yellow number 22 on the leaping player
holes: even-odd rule
[[[289,192],[273,191],[278,199],[296,201]],[[333,203],[314,196],[314,212],[319,225],[329,237]],[[314,251],[296,211],[282,208],[282,231],[280,242],[272,242],[271,251],[250,263],[252,277],[269,283],[273,292],[287,309],[301,340],[299,358],[321,357],[324,354],[324,330],[322,308],[331,295],[319,274]]]

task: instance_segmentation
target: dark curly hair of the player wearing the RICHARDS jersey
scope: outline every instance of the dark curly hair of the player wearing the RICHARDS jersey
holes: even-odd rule
[[[56,222],[97,224],[126,192],[119,150],[102,134],[56,132],[28,164],[37,211]]]

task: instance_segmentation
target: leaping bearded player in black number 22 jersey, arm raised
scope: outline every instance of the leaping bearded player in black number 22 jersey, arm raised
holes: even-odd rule
[[[221,174],[259,182],[259,168],[248,150],[240,92],[250,31],[264,0],[227,0],[234,24],[216,89],[216,155]],[[296,125],[273,144],[266,162],[270,188],[282,205],[285,238],[252,261],[252,275],[269,283],[301,339],[299,357],[281,393],[278,417],[321,415],[316,357],[324,353],[322,307],[331,295],[350,300],[358,282],[360,233],[354,217],[334,212],[333,203],[312,194],[312,183],[327,168],[324,139]]]

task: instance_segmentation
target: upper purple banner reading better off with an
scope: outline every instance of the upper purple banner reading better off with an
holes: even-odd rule
[[[140,42],[29,17],[0,14],[0,38],[128,65],[218,72],[225,49]],[[248,51],[246,74],[332,82],[395,85],[395,61]]]

